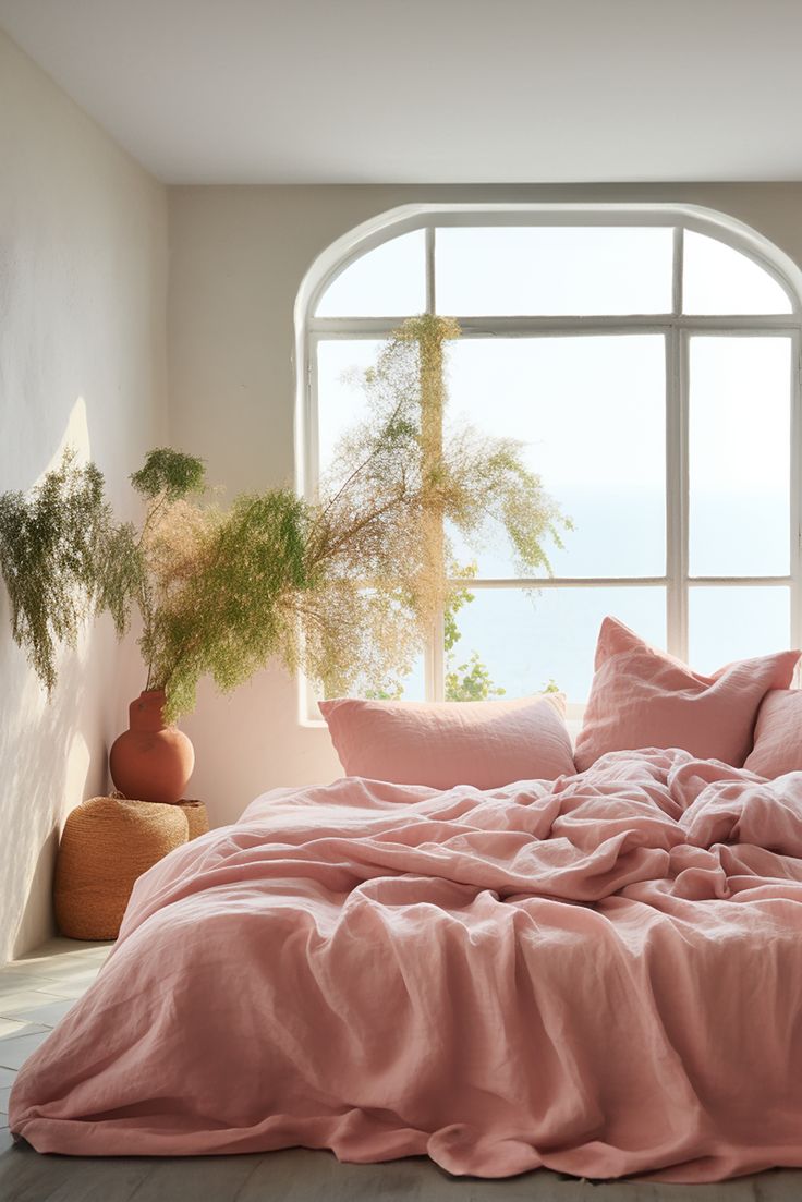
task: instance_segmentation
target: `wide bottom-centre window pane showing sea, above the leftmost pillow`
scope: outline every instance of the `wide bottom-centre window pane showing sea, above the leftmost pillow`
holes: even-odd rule
[[[570,703],[586,702],[599,626],[607,614],[665,647],[663,588],[475,589],[471,595],[456,614],[461,638],[446,656],[446,674],[461,680],[475,653],[507,697],[540,692],[553,680]]]

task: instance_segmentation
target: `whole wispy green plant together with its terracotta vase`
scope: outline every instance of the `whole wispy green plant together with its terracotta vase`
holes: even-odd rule
[[[112,749],[129,797],[178,801],[192,767],[174,721],[209,674],[237,688],[272,659],[303,667],[331,696],[378,691],[408,668],[446,597],[446,537],[495,528],[522,575],[548,571],[546,535],[570,523],[521,446],[470,428],[444,439],[445,347],[459,333],[410,319],[361,381],[368,416],[340,441],[315,501],[290,488],[224,507],[203,463],[152,451],[131,476],[139,529],[114,520],[103,480],[66,453],[30,494],[0,498],[0,571],[12,635],[48,690],[55,651],[107,609],[119,635],[138,608],[145,686]]]

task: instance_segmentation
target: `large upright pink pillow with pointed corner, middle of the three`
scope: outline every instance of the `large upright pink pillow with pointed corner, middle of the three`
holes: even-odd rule
[[[739,768],[770,689],[791,683],[798,651],[729,664],[705,677],[605,618],[595,676],[574,760],[584,772],[606,751],[684,748]]]

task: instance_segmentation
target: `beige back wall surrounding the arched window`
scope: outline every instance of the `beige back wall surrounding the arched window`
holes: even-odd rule
[[[170,190],[171,438],[203,456],[230,493],[293,478],[293,304],[335,238],[416,201],[675,201],[755,227],[802,266],[802,185],[287,186]],[[192,795],[233,821],[275,785],[331,780],[325,728],[299,726],[296,684],[269,670],[231,697],[200,692],[185,721]]]

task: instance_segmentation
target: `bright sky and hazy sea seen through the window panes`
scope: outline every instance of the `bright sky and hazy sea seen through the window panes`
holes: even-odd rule
[[[672,232],[664,228],[439,230],[436,310],[448,315],[665,313]],[[788,313],[777,281],[712,238],[685,232],[684,310]],[[423,232],[385,243],[334,280],[320,316],[398,316],[424,308]],[[349,369],[374,340],[319,344],[325,464],[363,397]],[[689,343],[689,563],[697,576],[789,572],[791,340],[696,334]],[[519,439],[529,466],[575,523],[549,548],[557,577],[665,572],[665,341],[660,333],[469,338],[448,347],[448,421]],[[480,576],[517,575],[507,548],[459,545]],[[477,650],[507,696],[553,679],[581,704],[601,618],[665,645],[665,589],[475,590],[459,614],[457,661]],[[703,672],[789,645],[784,587],[695,587],[689,660]],[[464,653],[464,654],[461,654]],[[422,695],[422,672],[405,696]]]

